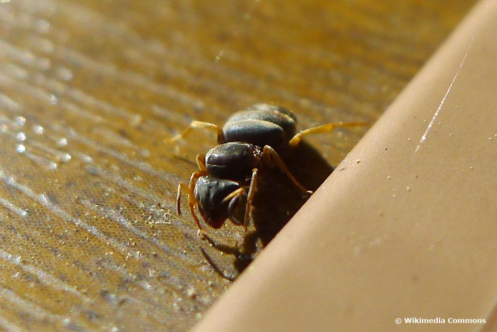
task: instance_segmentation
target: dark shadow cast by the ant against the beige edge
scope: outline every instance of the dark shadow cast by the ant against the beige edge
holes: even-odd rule
[[[316,191],[333,171],[333,167],[321,154],[305,141],[301,141],[291,155],[285,158],[285,164],[299,183],[312,191]],[[235,257],[233,266],[237,273],[233,276],[226,275],[205,249],[200,247],[200,250],[220,276],[233,281],[307,200],[308,197],[303,197],[302,191],[285,174],[276,168],[266,169],[258,180],[253,199],[251,222],[254,230],[244,235],[242,244],[224,245],[205,235],[205,239],[212,247]]]

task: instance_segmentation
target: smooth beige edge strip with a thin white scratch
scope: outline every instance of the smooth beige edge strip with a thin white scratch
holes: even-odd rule
[[[496,74],[487,0],[195,331],[492,329]]]

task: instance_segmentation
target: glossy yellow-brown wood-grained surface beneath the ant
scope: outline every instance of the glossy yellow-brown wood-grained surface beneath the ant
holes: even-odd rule
[[[187,330],[230,285],[199,246],[236,276],[260,221],[303,201],[268,172],[250,241],[209,232],[222,254],[175,214],[215,139],[165,140],[258,102],[302,128],[374,121],[470,2],[1,1],[0,327]],[[317,186],[363,132],[309,137],[289,166]]]

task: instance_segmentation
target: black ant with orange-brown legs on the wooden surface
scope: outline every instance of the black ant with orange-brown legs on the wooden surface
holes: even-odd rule
[[[295,179],[281,156],[286,157],[304,135],[359,125],[366,123],[327,123],[297,132],[295,114],[269,104],[255,104],[234,113],[222,128],[208,122],[192,121],[183,133],[171,140],[185,137],[194,128],[209,128],[216,130],[218,145],[205,155],[197,155],[199,170],[192,173],[188,185],[179,183],[177,214],[181,215],[180,201],[184,190],[188,193],[188,206],[201,239],[206,237],[202,234],[195,208],[203,221],[213,228],[221,227],[229,219],[243,225],[247,231],[259,170],[277,167],[304,196],[309,197],[313,192]]]

